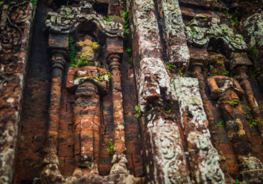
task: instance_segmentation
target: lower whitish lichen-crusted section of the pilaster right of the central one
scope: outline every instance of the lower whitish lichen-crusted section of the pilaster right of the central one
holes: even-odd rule
[[[181,125],[186,134],[190,168],[196,183],[225,183],[219,166],[218,151],[210,141],[208,120],[198,89],[198,80],[179,77],[174,80]]]

